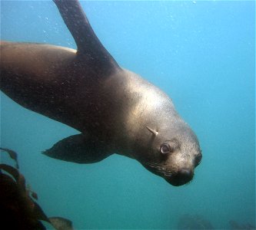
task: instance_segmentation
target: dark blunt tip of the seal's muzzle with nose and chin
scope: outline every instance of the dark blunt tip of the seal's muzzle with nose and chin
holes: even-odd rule
[[[165,180],[172,186],[183,186],[193,179],[194,172],[189,169],[181,169],[171,176],[164,176]]]

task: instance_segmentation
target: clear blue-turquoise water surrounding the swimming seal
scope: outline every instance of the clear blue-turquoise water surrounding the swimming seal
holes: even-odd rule
[[[185,214],[214,228],[230,228],[230,220],[255,225],[255,3],[81,5],[116,61],[174,100],[203,160],[193,182],[173,187],[124,156],[91,165],[50,159],[42,150],[78,132],[1,94],[1,146],[18,152],[42,209],[76,229],[175,229]],[[1,39],[75,48],[49,1],[2,1]]]

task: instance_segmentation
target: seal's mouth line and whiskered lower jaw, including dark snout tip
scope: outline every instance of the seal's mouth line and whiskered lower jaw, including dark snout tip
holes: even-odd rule
[[[159,166],[157,163],[145,163],[142,165],[150,172],[163,177],[172,186],[183,186],[194,177],[194,172],[191,169],[180,169],[178,172],[171,172],[165,166]]]

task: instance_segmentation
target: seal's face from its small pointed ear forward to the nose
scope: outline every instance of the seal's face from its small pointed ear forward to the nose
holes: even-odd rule
[[[146,169],[163,177],[172,186],[182,186],[194,176],[194,168],[201,162],[201,149],[194,132],[183,120],[178,119],[169,128],[153,130],[145,159],[141,163]]]

